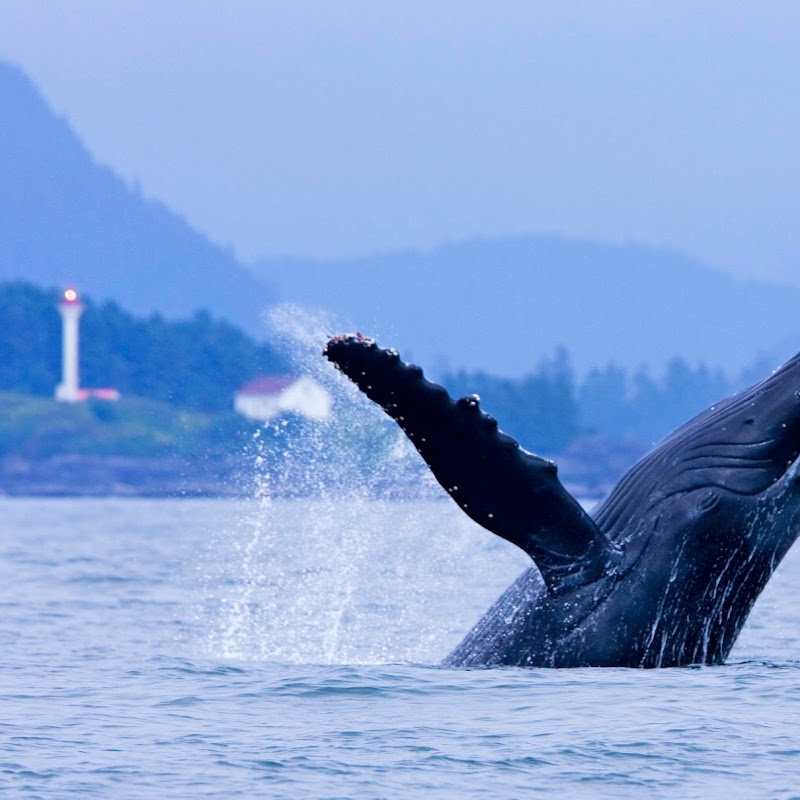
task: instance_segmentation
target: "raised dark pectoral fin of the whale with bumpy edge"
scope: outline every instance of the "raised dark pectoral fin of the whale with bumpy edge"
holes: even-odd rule
[[[466,514],[534,560],[550,591],[613,569],[618,551],[562,486],[556,465],[501,433],[477,397],[453,401],[419,367],[360,334],[331,339],[324,353],[400,425]]]

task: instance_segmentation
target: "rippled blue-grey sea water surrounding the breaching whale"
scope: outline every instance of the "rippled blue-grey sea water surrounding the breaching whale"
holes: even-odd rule
[[[3,797],[800,797],[800,552],[726,667],[441,670],[446,503],[0,500]]]

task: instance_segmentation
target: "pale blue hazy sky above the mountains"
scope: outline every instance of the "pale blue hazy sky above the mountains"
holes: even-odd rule
[[[558,232],[800,285],[790,0],[0,0],[0,58],[246,260]]]

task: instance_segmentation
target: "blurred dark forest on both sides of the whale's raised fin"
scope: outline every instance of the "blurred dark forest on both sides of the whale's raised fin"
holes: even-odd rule
[[[0,285],[0,391],[52,396],[61,378],[58,302],[55,290]],[[233,394],[250,378],[289,371],[287,355],[208,312],[179,321],[142,319],[114,302],[83,302],[84,386],[221,413],[230,411]],[[479,394],[482,408],[524,447],[558,454],[590,435],[652,444],[768,371],[766,364],[754,364],[731,380],[718,369],[674,358],[658,375],[608,364],[578,378],[560,348],[522,378],[461,371],[442,383],[456,397]]]

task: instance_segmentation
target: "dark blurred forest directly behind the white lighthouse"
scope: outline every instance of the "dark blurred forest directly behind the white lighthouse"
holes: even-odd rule
[[[59,297],[22,282],[0,286],[0,391],[52,396],[61,380]],[[82,302],[82,386],[219,412],[231,408],[247,380],[288,369],[272,345],[206,311],[178,321],[158,314],[141,319],[114,302]]]

